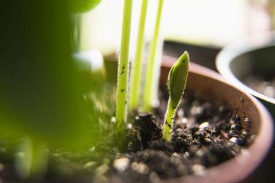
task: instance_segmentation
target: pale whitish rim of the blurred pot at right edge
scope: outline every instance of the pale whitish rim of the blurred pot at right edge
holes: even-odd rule
[[[267,97],[262,93],[253,90],[241,82],[231,71],[230,63],[234,58],[240,56],[243,53],[254,51],[256,49],[270,47],[275,45],[275,32],[267,32],[266,34],[256,34],[253,36],[245,37],[236,42],[232,42],[230,45],[221,49],[216,58],[216,67],[219,73],[225,80],[237,85],[239,88],[247,90],[249,93],[259,99],[263,99],[269,103],[275,104],[275,99]]]

